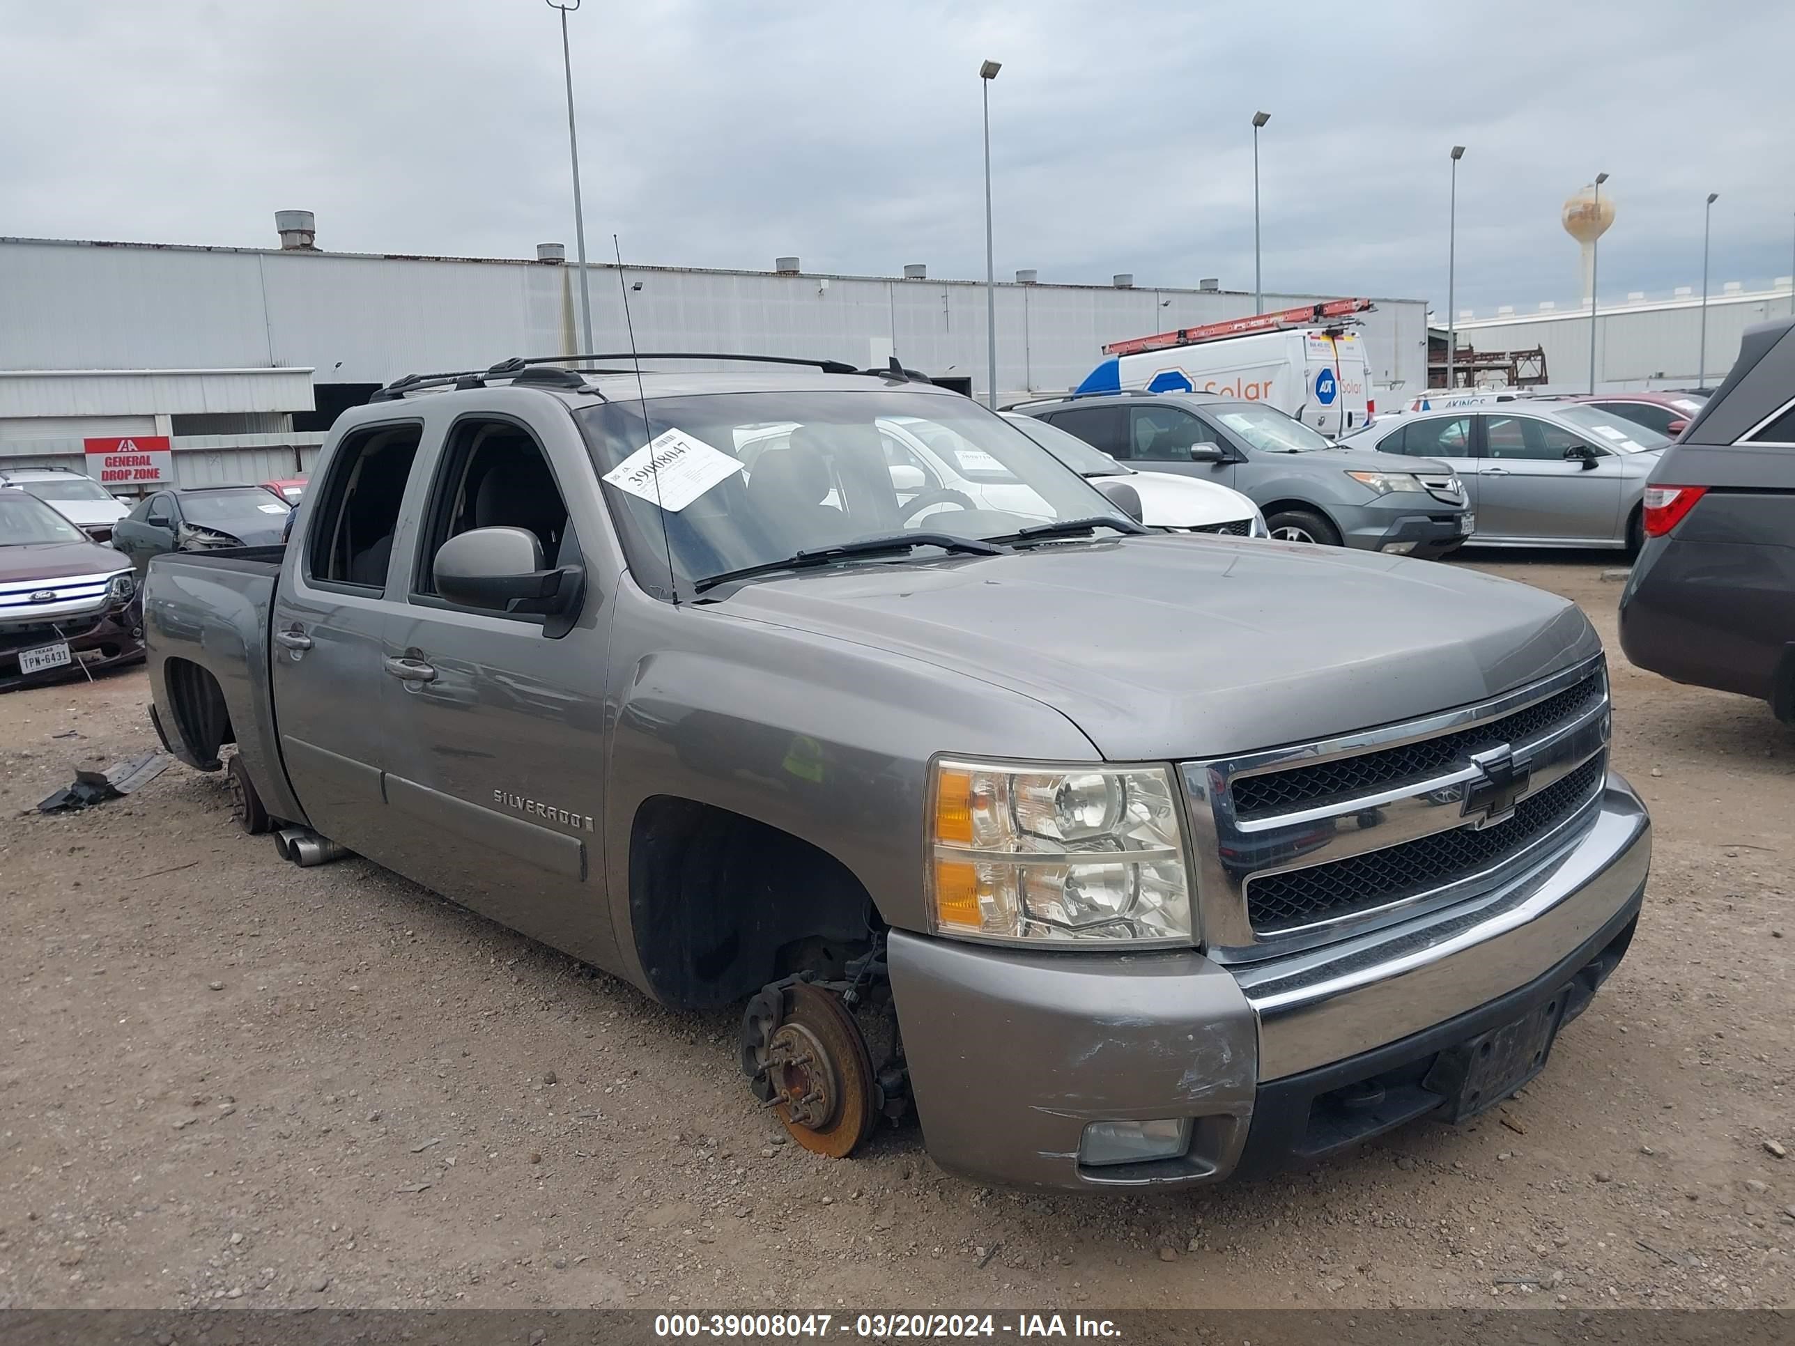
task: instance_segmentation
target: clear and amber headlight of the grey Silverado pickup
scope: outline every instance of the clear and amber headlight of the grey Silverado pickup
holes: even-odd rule
[[[1163,766],[937,761],[935,931],[1003,944],[1190,944],[1190,887]]]

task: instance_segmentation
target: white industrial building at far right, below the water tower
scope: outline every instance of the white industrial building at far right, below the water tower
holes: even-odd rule
[[[1766,289],[1725,282],[1707,296],[1707,364],[1702,368],[1702,296],[1682,285],[1669,298],[1632,293],[1624,302],[1601,300],[1596,307],[1596,389],[1716,386],[1739,354],[1739,334],[1770,318],[1791,312],[1790,276],[1777,276]],[[1436,330],[1440,319],[1434,319]],[[1547,391],[1589,389],[1589,302],[1542,303],[1531,312],[1513,307],[1475,318],[1459,310],[1458,346],[1474,352],[1545,354]],[[1443,346],[1441,346],[1443,352]],[[1436,364],[1441,357],[1436,355]]]

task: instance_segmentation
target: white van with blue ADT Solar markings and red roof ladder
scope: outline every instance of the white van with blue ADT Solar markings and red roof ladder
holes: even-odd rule
[[[1341,305],[1291,309],[1118,341],[1104,348],[1109,359],[1091,370],[1075,391],[1142,388],[1149,393],[1215,393],[1265,402],[1323,434],[1352,434],[1364,429],[1375,409],[1364,343],[1343,327],[1312,325],[1316,318],[1332,316],[1323,309]]]

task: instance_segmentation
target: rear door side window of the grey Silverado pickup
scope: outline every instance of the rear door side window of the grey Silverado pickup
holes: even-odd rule
[[[305,571],[320,583],[386,587],[398,506],[418,454],[416,425],[382,425],[346,438],[330,461],[307,540]]]

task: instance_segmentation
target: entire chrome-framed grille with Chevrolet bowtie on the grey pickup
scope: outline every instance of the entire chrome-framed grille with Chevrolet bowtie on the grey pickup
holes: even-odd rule
[[[1475,897],[1590,817],[1601,657],[1413,723],[1185,763],[1204,942],[1269,958]]]

